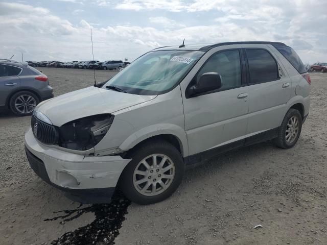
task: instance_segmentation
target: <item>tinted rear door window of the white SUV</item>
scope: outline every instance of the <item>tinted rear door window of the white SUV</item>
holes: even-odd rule
[[[264,83],[278,78],[276,61],[266,50],[246,50],[250,70],[250,83]]]

